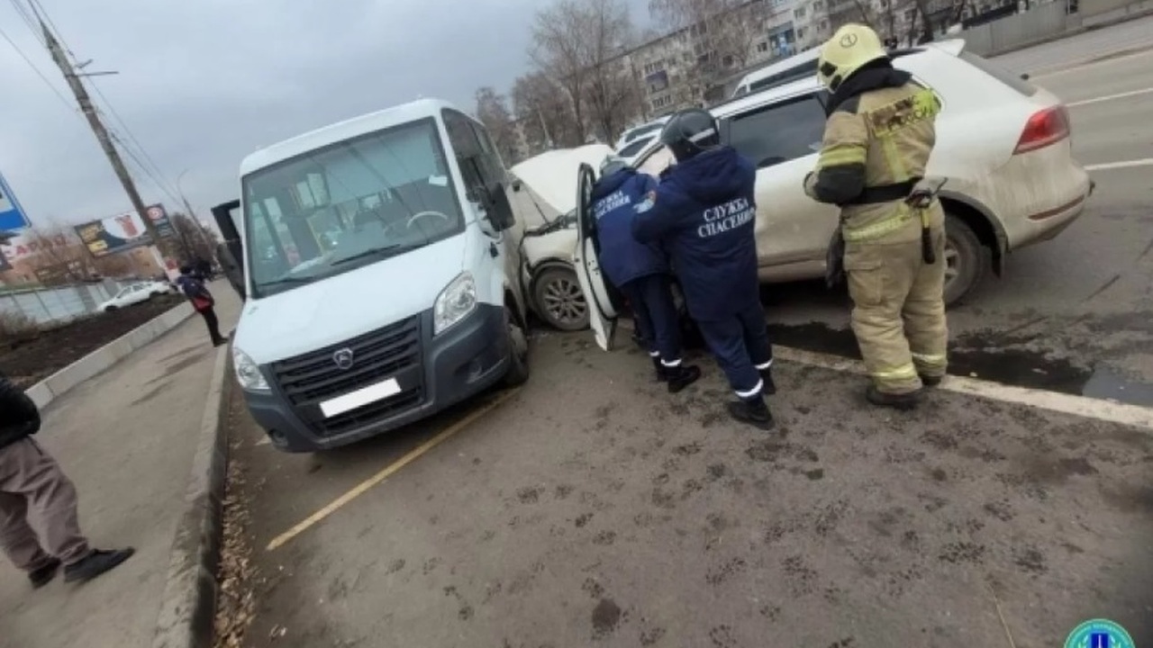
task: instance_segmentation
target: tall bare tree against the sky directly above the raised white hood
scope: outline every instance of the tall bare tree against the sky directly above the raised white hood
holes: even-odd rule
[[[530,58],[572,105],[578,138],[615,138],[636,110],[623,53],[633,43],[621,0],[556,0],[536,15]]]

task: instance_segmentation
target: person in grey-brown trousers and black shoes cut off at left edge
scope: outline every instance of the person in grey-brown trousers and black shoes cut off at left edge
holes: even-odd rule
[[[60,465],[32,440],[40,413],[32,399],[0,375],[0,548],[44,587],[65,567],[65,581],[91,580],[135,553],[91,549],[76,517],[76,489]],[[39,519],[38,537],[29,517]]]

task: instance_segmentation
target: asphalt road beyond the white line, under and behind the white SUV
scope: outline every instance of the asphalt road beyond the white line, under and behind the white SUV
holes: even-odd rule
[[[1000,62],[1026,69],[1009,56]],[[1097,191],[1069,229],[1010,255],[1003,278],[988,274],[950,310],[954,369],[1153,405],[1153,51],[1033,81],[1069,104],[1073,155]],[[1100,167],[1132,160],[1145,165]],[[768,299],[778,341],[856,353],[844,295],[802,284],[773,287]]]

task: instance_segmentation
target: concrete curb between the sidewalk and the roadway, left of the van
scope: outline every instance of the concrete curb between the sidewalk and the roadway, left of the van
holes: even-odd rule
[[[217,349],[196,455],[184,491],[186,508],[168,559],[153,648],[212,646],[228,466],[228,398],[234,384],[228,378],[232,366],[228,348],[229,345],[225,345]]]

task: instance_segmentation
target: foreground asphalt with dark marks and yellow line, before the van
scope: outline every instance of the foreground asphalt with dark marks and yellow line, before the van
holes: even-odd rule
[[[789,364],[767,435],[704,367],[673,397],[635,349],[538,337],[528,385],[383,481],[484,399],[311,457],[238,412],[246,645],[1008,646],[998,606],[1016,646],[1153,641],[1153,436],[948,392],[892,415]]]

